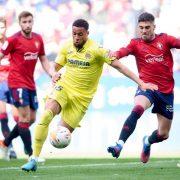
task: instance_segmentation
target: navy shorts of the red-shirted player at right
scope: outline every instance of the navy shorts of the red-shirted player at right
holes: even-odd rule
[[[136,95],[146,96],[151,104],[153,104],[152,113],[158,113],[172,120],[174,112],[174,93],[165,94],[159,91],[137,89]]]

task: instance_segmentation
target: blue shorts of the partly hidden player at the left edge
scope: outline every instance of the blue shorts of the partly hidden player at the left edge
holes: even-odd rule
[[[10,92],[7,81],[0,82],[0,101],[11,103]]]

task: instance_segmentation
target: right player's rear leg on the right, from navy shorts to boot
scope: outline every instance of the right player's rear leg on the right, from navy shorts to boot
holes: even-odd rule
[[[158,129],[153,131],[150,136],[143,138],[143,149],[141,153],[141,161],[143,163],[147,163],[149,160],[151,145],[168,138],[173,119],[174,95],[156,92],[155,96],[156,100],[152,112],[157,114]]]

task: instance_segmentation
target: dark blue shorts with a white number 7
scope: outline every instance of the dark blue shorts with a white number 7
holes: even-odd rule
[[[36,90],[26,88],[10,88],[12,103],[15,107],[30,106],[31,109],[38,109]]]

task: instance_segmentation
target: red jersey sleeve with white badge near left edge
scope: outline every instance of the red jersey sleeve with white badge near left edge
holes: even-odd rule
[[[4,42],[4,44],[2,45],[1,47],[1,52],[4,54],[4,55],[8,55],[13,47],[14,47],[14,39],[13,38],[7,38],[6,41]]]

